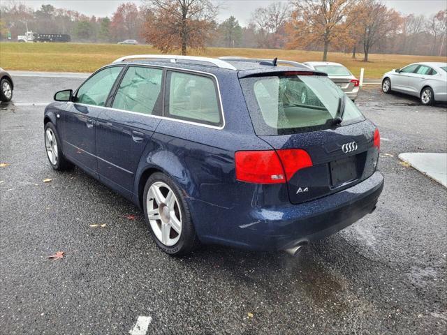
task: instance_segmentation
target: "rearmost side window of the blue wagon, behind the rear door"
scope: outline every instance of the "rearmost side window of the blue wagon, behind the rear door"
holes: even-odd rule
[[[217,85],[204,75],[168,71],[165,110],[169,117],[198,121],[204,124],[222,124]]]

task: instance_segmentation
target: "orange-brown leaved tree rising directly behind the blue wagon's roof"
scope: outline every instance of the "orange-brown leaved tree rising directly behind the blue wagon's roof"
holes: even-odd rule
[[[200,48],[214,28],[218,6],[210,0],[147,0],[152,20],[145,22],[144,36],[161,52]]]

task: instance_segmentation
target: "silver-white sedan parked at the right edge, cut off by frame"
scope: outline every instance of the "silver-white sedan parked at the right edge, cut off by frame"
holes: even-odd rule
[[[420,98],[423,105],[447,101],[447,63],[413,63],[387,72],[382,77],[382,91],[398,91]]]

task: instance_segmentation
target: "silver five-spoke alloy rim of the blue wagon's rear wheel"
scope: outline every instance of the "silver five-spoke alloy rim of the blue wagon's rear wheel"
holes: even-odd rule
[[[165,246],[176,244],[182,234],[182,211],[173,190],[156,181],[147,193],[147,218],[155,236]]]

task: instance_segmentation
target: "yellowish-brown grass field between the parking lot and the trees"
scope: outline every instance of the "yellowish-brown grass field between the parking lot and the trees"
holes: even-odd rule
[[[80,44],[80,43],[0,43],[0,67],[7,70],[91,72],[127,54],[158,54],[149,45]],[[292,61],[320,61],[321,52],[274,49],[230,49],[208,47],[203,52],[191,52],[206,57],[241,56],[254,58],[278,57]],[[329,61],[348,67],[354,75],[365,68],[366,78],[380,78],[393,68],[416,61],[447,61],[446,57],[370,54],[367,63],[352,59],[351,54],[330,52]]]

